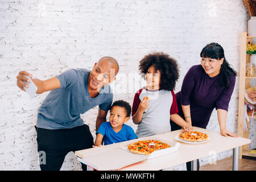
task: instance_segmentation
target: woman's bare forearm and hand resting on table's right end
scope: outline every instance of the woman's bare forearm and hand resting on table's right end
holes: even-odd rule
[[[220,125],[220,133],[221,135],[223,135],[224,137],[238,137],[236,134],[226,130],[226,115],[227,115],[228,111],[224,110],[224,109],[217,109],[217,115],[218,115],[218,124]]]

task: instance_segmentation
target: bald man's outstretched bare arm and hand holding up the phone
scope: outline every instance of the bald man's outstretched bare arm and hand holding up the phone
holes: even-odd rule
[[[32,79],[32,75],[26,71],[21,71],[19,72],[19,75],[16,77],[17,78],[17,86],[24,90],[23,86],[27,85],[23,82],[30,82],[28,78],[26,78],[24,75],[29,76]],[[57,88],[60,88],[60,81],[56,77],[49,78],[48,80],[39,80],[37,78],[33,78],[32,81],[34,84],[38,87],[38,90],[36,90],[36,93],[44,93],[49,90],[54,90]],[[24,90],[25,91],[25,90]]]

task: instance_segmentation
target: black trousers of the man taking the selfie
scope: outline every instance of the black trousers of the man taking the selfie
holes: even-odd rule
[[[72,129],[48,130],[35,126],[38,134],[39,163],[42,171],[59,171],[68,152],[92,148],[93,137],[88,125]],[[82,169],[87,166],[82,164]]]

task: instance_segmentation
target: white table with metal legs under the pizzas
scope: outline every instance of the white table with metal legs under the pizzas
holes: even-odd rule
[[[233,149],[233,170],[238,170],[238,161],[239,161],[239,147],[245,144],[249,144],[251,142],[250,139],[247,138],[233,138],[233,137],[224,137],[220,133],[210,131],[207,129],[201,129],[199,127],[193,127],[193,131],[200,131],[202,133],[206,133],[209,136],[209,141],[201,144],[187,144],[180,143],[180,147],[177,151],[172,154],[160,156],[158,158],[143,160],[142,162],[138,162],[135,164],[131,164],[130,166],[123,167],[119,170],[126,171],[150,171],[150,170],[160,170],[168,167],[176,166],[182,163],[192,161],[192,170],[197,169],[197,159],[204,158],[206,156],[210,156],[212,154],[217,154],[222,151],[227,151]],[[151,137],[157,137],[163,140],[174,140],[176,135],[180,134],[180,130],[171,131],[164,134],[154,135]],[[119,146],[123,146],[123,144],[131,143],[132,140],[114,143],[108,146],[89,148],[86,150],[76,151],[75,154],[82,158],[89,152],[104,151],[109,150],[110,148],[119,148]],[[114,156],[108,156],[109,158]]]

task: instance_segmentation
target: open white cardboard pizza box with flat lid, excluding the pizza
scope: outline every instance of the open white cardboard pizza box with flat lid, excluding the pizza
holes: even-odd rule
[[[138,140],[148,139],[161,140],[162,142],[170,144],[171,147],[152,152],[150,155],[134,154],[127,150],[127,146],[130,143],[137,142]],[[75,151],[75,155],[81,163],[84,163],[96,170],[117,170],[134,163],[142,162],[143,160],[171,154],[172,152],[175,152],[179,146],[179,142],[168,141],[154,137],[144,137],[126,142],[114,143],[107,146]]]

